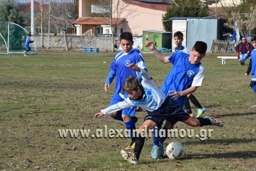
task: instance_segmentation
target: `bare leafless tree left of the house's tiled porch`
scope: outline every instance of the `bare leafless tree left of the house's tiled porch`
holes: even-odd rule
[[[66,32],[68,28],[71,28],[71,21],[75,19],[77,16],[75,15],[75,11],[78,8],[77,0],[73,2],[70,0],[55,0],[52,4],[52,11],[51,11],[51,22],[54,23],[55,29],[60,30],[64,36],[64,45],[66,51],[69,50],[68,48],[68,41],[66,38]]]

